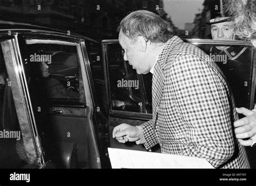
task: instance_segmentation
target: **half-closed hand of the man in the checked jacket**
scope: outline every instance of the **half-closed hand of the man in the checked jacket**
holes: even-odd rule
[[[123,123],[114,127],[112,137],[123,144],[127,141],[137,141],[140,139],[139,128]]]

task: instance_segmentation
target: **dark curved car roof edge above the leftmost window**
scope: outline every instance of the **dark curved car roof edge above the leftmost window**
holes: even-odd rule
[[[46,26],[33,25],[29,23],[17,23],[17,22],[9,22],[5,20],[0,20],[0,32],[2,31],[18,31],[18,32],[47,32],[47,33],[55,33],[59,35],[67,35],[66,32],[62,30],[58,30],[55,28],[49,28]],[[89,40],[92,42],[99,42],[95,39],[85,37],[84,35],[70,33],[71,37],[82,38],[85,40]]]

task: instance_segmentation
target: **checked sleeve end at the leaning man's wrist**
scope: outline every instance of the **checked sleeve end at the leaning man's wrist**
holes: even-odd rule
[[[157,145],[158,139],[155,133],[153,121],[149,120],[140,126],[142,127],[144,139],[146,140],[146,142],[144,143],[144,146],[146,147],[146,149],[149,149]]]

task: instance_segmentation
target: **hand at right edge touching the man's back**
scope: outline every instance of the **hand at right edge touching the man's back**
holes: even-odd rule
[[[245,118],[239,119],[234,122],[235,137],[241,145],[252,146],[256,142],[256,112],[254,110],[248,110],[246,108],[236,108],[238,113],[245,115]],[[244,138],[250,138],[248,140],[242,140]]]

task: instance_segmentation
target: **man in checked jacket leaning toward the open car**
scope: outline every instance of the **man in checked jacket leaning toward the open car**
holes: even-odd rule
[[[113,138],[147,149],[159,144],[162,153],[204,158],[215,168],[250,168],[245,148],[234,138],[238,114],[232,93],[203,51],[145,10],[122,20],[119,42],[138,74],[153,74],[153,119],[140,126],[120,124]]]

